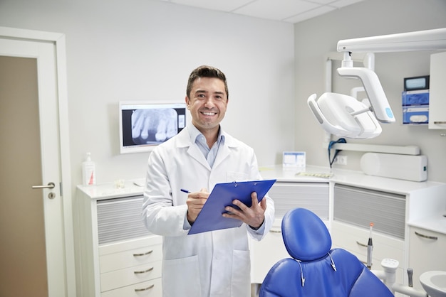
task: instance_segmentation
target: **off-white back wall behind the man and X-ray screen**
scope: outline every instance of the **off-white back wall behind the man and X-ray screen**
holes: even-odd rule
[[[85,152],[98,183],[143,178],[147,153],[120,155],[120,100],[183,102],[192,69],[226,73],[223,127],[259,164],[294,149],[294,26],[151,0],[1,0],[0,26],[66,34],[73,185]]]

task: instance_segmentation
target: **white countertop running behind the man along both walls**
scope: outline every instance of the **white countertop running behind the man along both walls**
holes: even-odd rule
[[[446,184],[424,181],[398,180],[395,178],[383,178],[379,176],[365,175],[361,171],[348,171],[322,166],[306,166],[305,168],[283,167],[281,165],[259,167],[261,177],[264,179],[276,179],[279,183],[341,183],[371,190],[387,191],[408,195],[418,190],[435,190],[445,192],[444,202],[440,202],[440,209],[436,213],[424,217],[414,216],[415,220],[409,220],[408,225],[421,227],[435,232],[446,234]],[[142,195],[144,178],[125,180],[119,183],[101,183],[98,185],[78,185],[78,190],[88,194],[92,199],[103,200],[118,198],[123,195]]]

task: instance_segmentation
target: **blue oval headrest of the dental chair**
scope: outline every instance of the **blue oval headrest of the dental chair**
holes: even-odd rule
[[[311,261],[330,252],[330,233],[321,218],[310,210],[289,210],[282,219],[281,229],[286,250],[294,259]]]

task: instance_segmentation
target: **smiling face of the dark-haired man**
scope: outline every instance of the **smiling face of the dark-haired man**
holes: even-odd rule
[[[186,96],[186,104],[192,115],[192,124],[200,132],[218,131],[228,104],[224,82],[214,77],[197,78],[189,96]]]

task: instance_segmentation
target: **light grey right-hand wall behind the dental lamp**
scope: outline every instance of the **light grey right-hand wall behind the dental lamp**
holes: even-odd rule
[[[446,27],[446,1],[444,0],[366,0],[338,9],[308,21],[296,23],[296,150],[306,151],[307,163],[328,166],[327,148],[323,148],[324,132],[309,112],[306,99],[325,92],[325,61],[327,53],[336,51],[340,39],[378,36],[390,33],[420,31]],[[430,53],[377,53],[375,72],[393,109],[397,123],[383,124],[383,133],[375,139],[349,140],[364,144],[420,146],[428,159],[428,178],[446,182],[445,130],[429,130],[427,126],[402,124],[401,92],[403,78],[428,75]],[[333,73],[336,69],[333,69]],[[333,77],[334,92],[348,94],[346,80]],[[308,131],[311,131],[308,133]],[[334,137],[333,139],[338,139]],[[347,166],[360,170],[363,153],[343,151],[348,156]]]

